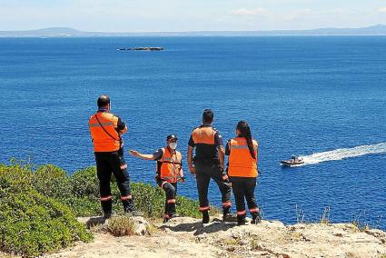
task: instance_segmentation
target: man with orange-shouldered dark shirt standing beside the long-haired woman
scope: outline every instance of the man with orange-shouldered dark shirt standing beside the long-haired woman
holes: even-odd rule
[[[213,128],[213,111],[203,111],[203,124],[195,128],[189,139],[187,160],[189,171],[196,175],[200,212],[203,213],[203,223],[209,223],[208,187],[211,178],[219,186],[222,193],[223,221],[233,221],[235,216],[231,213],[231,186],[228,176],[223,170],[223,138]],[[195,156],[193,158],[193,149]]]

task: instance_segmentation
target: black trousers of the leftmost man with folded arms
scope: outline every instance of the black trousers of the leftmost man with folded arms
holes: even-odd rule
[[[121,192],[121,201],[124,212],[133,212],[134,203],[130,190],[130,175],[127,172],[127,164],[124,161],[124,150],[111,153],[95,153],[96,173],[99,179],[101,204],[104,213],[112,212],[112,193],[110,179],[112,173],[116,178],[116,184]]]

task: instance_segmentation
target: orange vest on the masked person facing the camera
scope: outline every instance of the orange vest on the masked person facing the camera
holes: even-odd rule
[[[180,152],[171,154],[167,147],[163,148],[163,156],[157,161],[157,173],[161,179],[170,183],[177,182],[181,170],[183,157]]]

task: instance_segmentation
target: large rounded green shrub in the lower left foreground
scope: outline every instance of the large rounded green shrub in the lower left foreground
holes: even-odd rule
[[[22,165],[0,166],[0,250],[36,256],[91,240],[66,205],[29,184],[34,179]]]

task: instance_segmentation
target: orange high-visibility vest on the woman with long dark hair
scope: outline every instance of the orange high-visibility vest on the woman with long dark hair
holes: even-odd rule
[[[233,138],[229,142],[231,154],[229,155],[228,175],[240,177],[257,177],[257,147],[258,144],[252,140],[255,159],[249,152],[247,141],[244,137]]]

